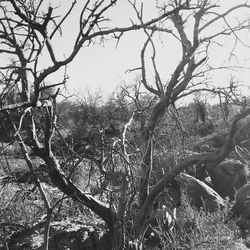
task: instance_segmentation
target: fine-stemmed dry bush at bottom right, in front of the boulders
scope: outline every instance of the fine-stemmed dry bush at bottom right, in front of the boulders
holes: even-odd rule
[[[225,217],[231,207],[227,202],[225,208],[214,213],[204,209],[198,211],[190,206],[188,200],[177,208],[175,225],[169,232],[159,226],[160,249],[236,249],[235,240],[239,238],[239,229],[235,223],[225,224]],[[239,240],[239,239],[238,239]]]

